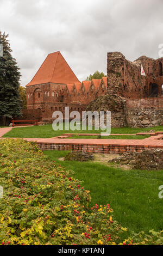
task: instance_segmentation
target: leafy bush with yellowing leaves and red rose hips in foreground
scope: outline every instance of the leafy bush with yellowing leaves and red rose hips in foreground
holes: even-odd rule
[[[0,141],[1,245],[163,244],[161,233],[122,239],[110,205],[89,209],[89,191],[22,139]]]

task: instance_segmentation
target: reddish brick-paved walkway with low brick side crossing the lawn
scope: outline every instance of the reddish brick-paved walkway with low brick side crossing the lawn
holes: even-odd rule
[[[0,137],[11,129],[12,127],[1,128]],[[155,133],[154,136],[145,139],[66,139],[66,137],[67,134],[54,138],[23,139],[35,141],[42,150],[85,150],[96,153],[124,153],[126,151],[140,152],[148,148],[163,149],[163,132]]]

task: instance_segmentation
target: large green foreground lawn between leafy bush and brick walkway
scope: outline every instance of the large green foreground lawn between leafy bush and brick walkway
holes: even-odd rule
[[[44,151],[49,159],[74,171],[90,190],[91,205],[109,203],[123,227],[135,232],[163,229],[163,199],[158,187],[163,185],[163,170],[124,170],[97,162],[59,161],[66,151]]]

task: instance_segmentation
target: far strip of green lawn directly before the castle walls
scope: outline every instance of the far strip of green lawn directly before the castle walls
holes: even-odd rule
[[[121,133],[121,134],[134,134],[142,131],[150,131],[154,129],[155,131],[163,131],[163,126],[154,126],[148,128],[130,128],[130,127],[119,127],[111,128],[111,133]],[[6,133],[3,137],[12,138],[51,138],[62,135],[62,133],[100,133],[101,131],[96,130],[80,130],[80,131],[54,131],[52,129],[52,124],[42,125],[42,126],[30,126],[30,127],[16,127]]]

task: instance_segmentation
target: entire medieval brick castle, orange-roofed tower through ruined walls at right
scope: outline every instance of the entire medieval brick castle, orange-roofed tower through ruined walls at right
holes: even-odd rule
[[[82,112],[92,102],[101,99],[102,105],[103,97],[110,95],[114,100],[111,95],[115,95],[123,107],[115,106],[111,112],[112,126],[163,125],[163,58],[142,56],[130,62],[121,52],[111,52],[107,61],[107,78],[80,82],[60,52],[48,54],[26,86],[23,117],[51,123],[54,111],[64,113],[68,106],[70,112]],[[141,75],[141,65],[146,76]]]

